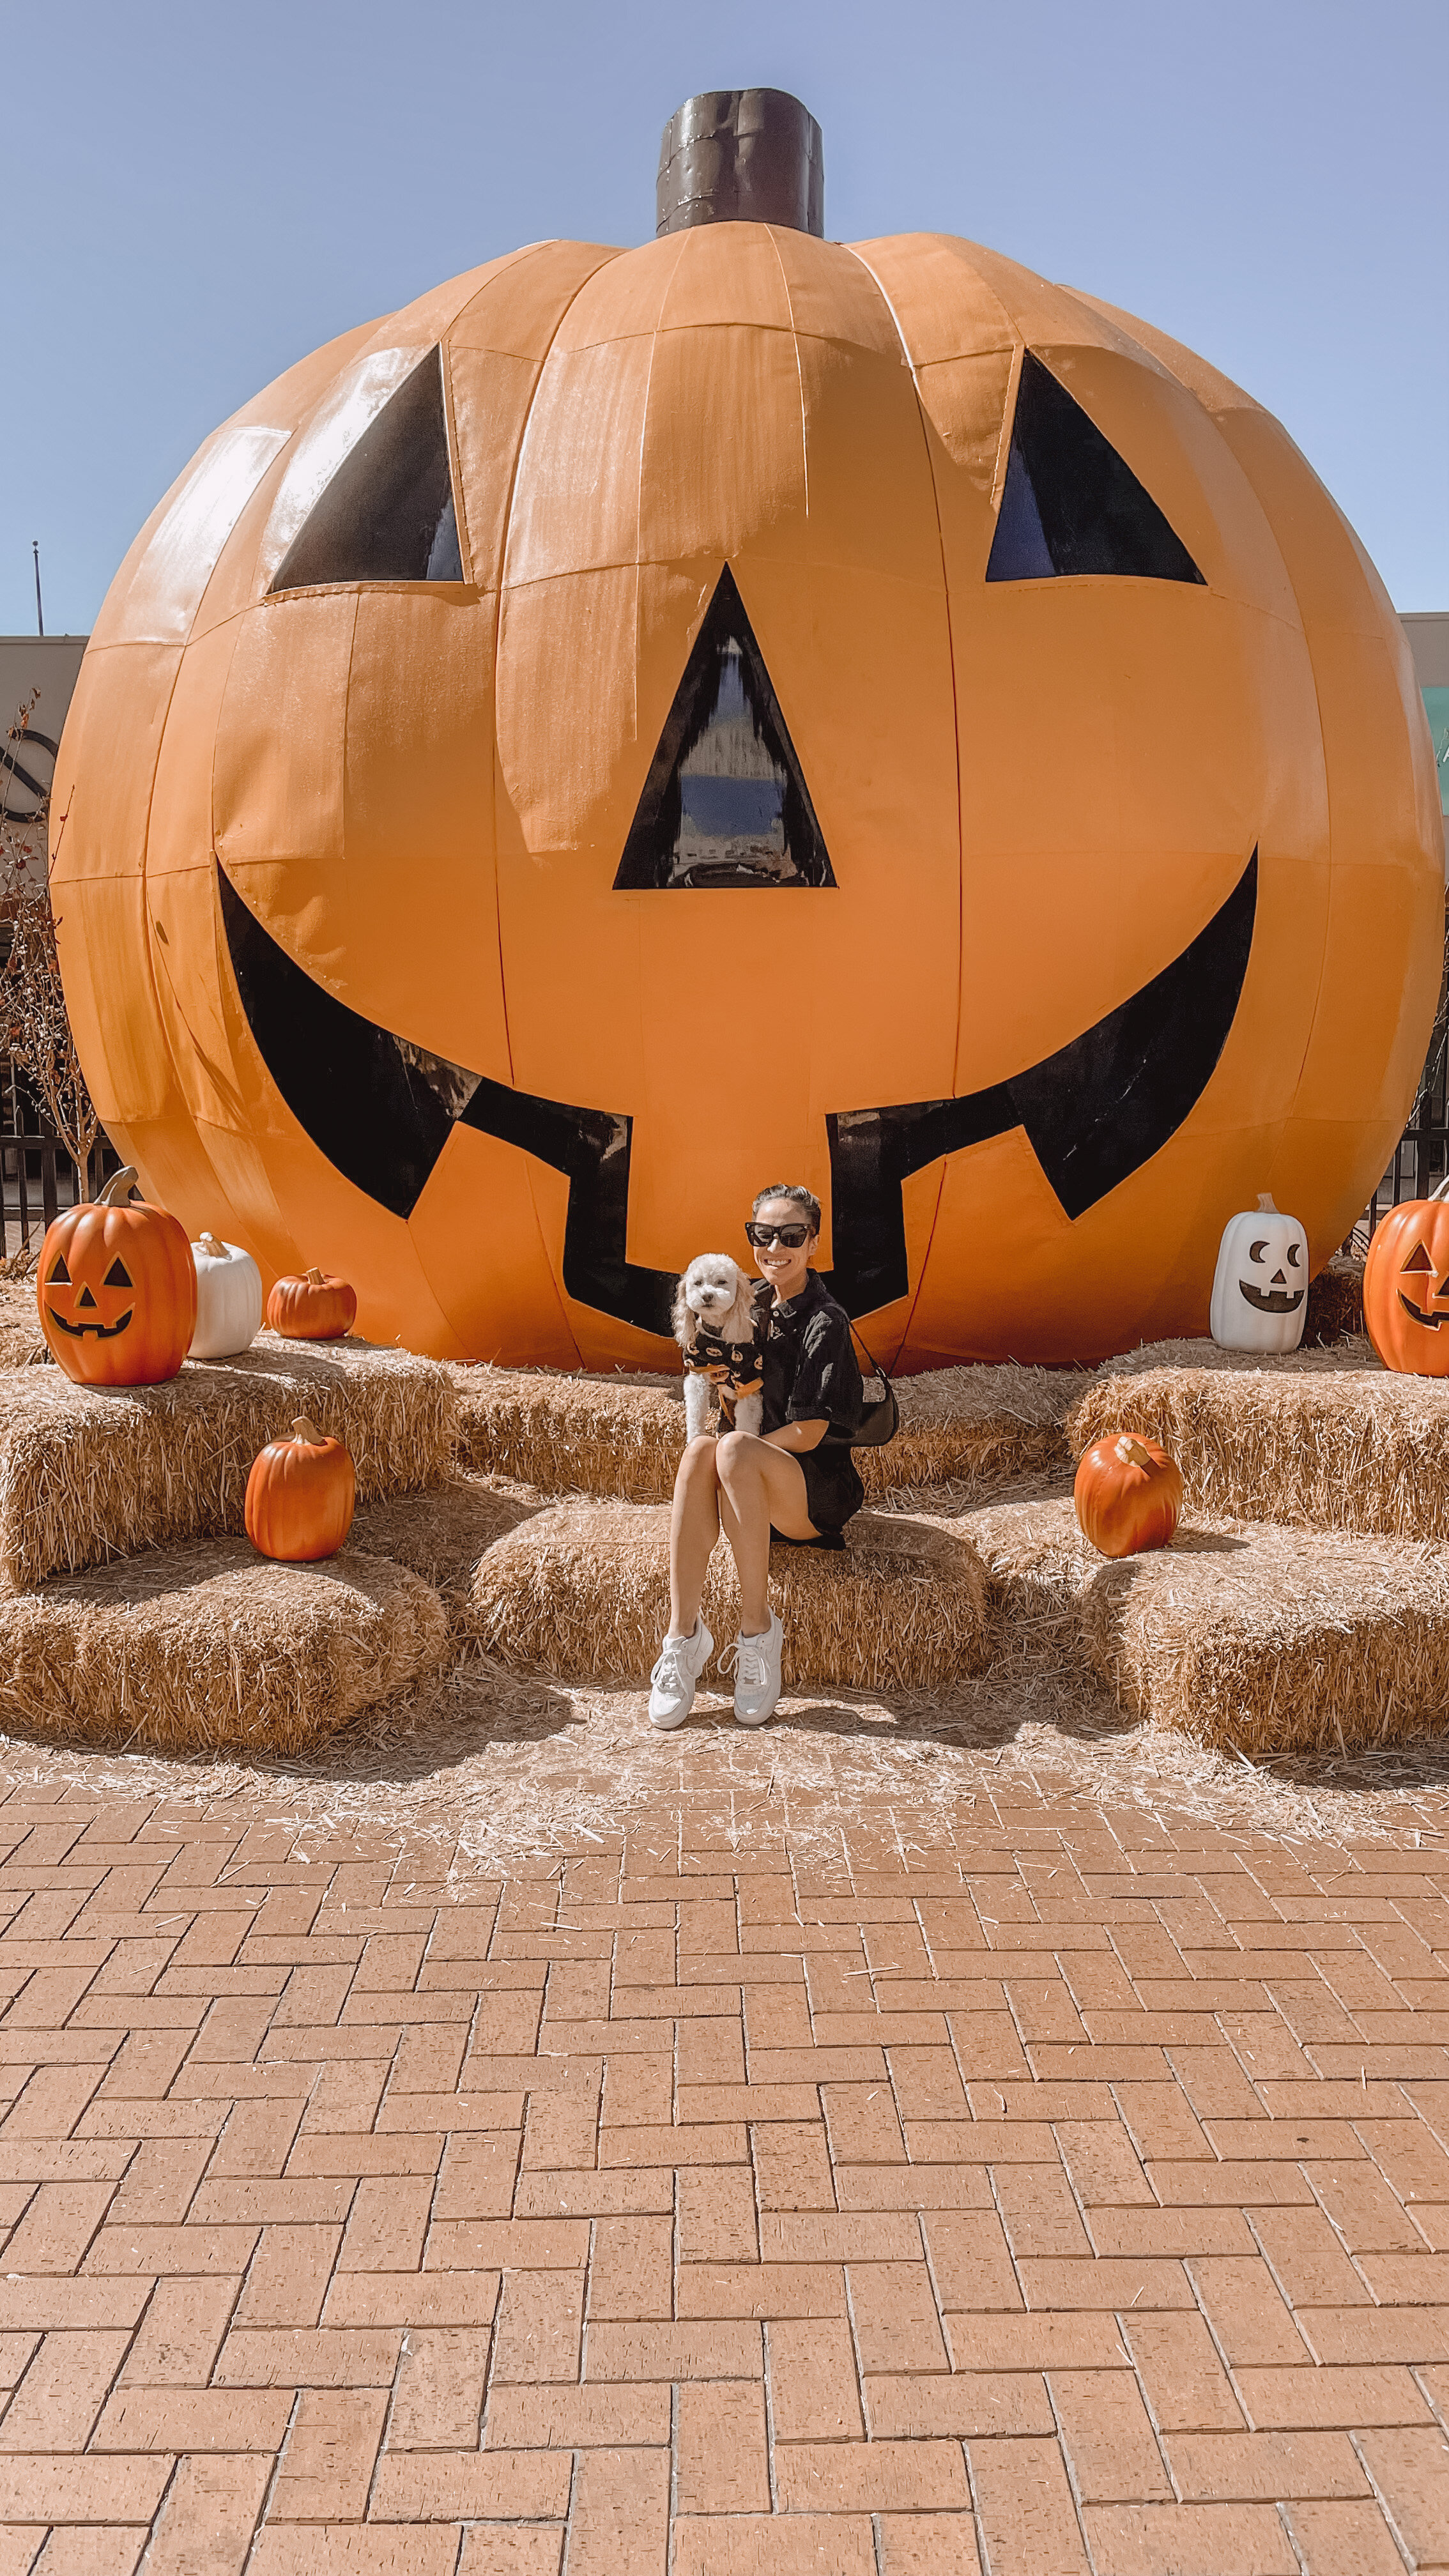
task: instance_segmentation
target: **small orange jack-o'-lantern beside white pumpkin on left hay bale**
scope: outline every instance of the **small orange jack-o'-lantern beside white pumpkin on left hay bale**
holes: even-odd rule
[[[186,1226],[131,1206],[131,1164],[98,1200],[46,1226],[36,1270],[41,1332],[77,1386],[160,1386],[196,1332],[196,1262]]]

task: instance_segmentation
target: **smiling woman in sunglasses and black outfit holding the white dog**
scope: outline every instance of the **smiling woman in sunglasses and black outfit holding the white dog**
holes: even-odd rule
[[[650,1726],[681,1726],[714,1638],[699,1615],[719,1530],[740,1577],[735,1723],[763,1726],[779,1700],[784,1631],[768,1605],[771,1538],[838,1548],[866,1499],[851,1461],[861,1422],[861,1370],[851,1319],[810,1260],[820,1200],[794,1182],[761,1190],[745,1226],[773,1303],[766,1319],[761,1435],[724,1430],[691,1440],[673,1489],[670,1633],[650,1674]]]

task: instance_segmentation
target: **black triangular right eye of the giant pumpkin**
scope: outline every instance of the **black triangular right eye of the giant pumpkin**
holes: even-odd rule
[[[1031,350],[1021,355],[1006,489],[987,582],[1060,572],[1116,572],[1145,582],[1201,582],[1181,536],[1096,420]]]

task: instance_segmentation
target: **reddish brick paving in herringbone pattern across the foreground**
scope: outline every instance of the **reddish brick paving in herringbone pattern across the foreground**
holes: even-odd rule
[[[1449,2568],[1449,1844],[975,1780],[480,1878],[15,1765],[0,2576]]]

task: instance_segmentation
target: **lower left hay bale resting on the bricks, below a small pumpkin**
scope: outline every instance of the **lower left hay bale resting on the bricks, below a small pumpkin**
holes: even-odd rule
[[[0,1718],[59,1744],[297,1754],[446,1651],[443,1605],[405,1566],[199,1540],[0,1597]]]

